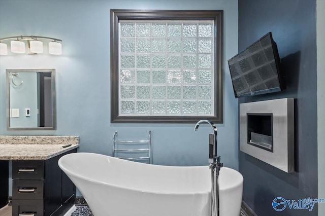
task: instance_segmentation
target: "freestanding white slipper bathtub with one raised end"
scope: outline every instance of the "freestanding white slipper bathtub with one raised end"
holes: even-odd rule
[[[94,153],[68,154],[58,164],[94,216],[210,215],[209,166],[160,166]],[[220,215],[239,215],[242,189],[243,176],[222,167]]]

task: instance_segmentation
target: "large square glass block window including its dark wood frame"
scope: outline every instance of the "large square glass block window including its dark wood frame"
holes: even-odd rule
[[[137,12],[112,17],[112,122],[222,121],[220,17],[137,19]]]

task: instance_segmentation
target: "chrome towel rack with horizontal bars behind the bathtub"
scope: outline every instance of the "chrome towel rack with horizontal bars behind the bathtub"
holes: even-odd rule
[[[139,144],[139,145],[146,145],[147,147],[141,149],[130,149],[127,148],[127,145]],[[128,152],[128,153],[135,153],[135,152],[142,152],[147,153],[147,157],[118,157],[117,152]],[[126,159],[126,160],[148,160],[148,163],[152,163],[151,159],[151,131],[149,130],[149,138],[147,140],[117,140],[117,131],[114,132],[113,135],[113,157]]]

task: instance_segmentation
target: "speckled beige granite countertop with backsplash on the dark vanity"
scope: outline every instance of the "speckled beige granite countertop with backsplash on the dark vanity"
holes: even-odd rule
[[[0,136],[0,160],[47,160],[78,147],[79,136]]]

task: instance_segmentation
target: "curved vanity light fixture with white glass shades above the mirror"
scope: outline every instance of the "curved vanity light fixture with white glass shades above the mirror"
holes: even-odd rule
[[[49,43],[49,53],[53,55],[62,54],[62,40],[42,37],[42,36],[13,36],[0,39],[0,55],[8,55],[8,46],[3,41],[12,40],[10,42],[11,52],[13,53],[25,53],[26,44],[23,41],[27,41],[27,53],[28,54],[39,54],[43,53],[43,42],[38,39],[51,40]]]

